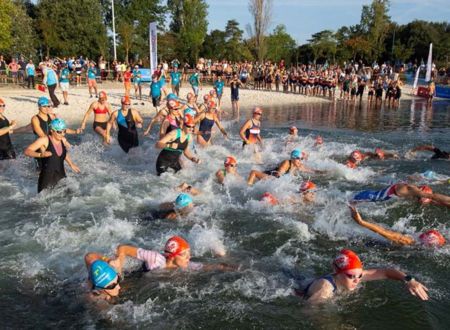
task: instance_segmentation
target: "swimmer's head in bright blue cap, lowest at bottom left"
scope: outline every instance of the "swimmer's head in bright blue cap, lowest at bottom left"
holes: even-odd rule
[[[89,278],[94,286],[93,289],[108,290],[111,296],[119,294],[119,275],[107,262],[94,261],[89,269]]]

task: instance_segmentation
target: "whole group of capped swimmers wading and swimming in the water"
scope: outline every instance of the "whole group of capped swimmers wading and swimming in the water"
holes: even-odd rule
[[[178,172],[182,169],[181,155],[193,163],[200,163],[200,159],[191,152],[191,144],[195,139],[197,144],[207,147],[212,141],[212,127],[217,125],[224,137],[227,132],[224,130],[217,113],[218,100],[214,93],[209,93],[203,99],[202,104],[198,104],[195,95],[188,94],[187,100],[182,100],[175,94],[168,94],[165,107],[155,116],[146,130],[149,134],[151,128],[156,123],[161,123],[159,139],[155,144],[157,149],[162,149],[156,161],[156,173],[161,175],[165,172]],[[76,173],[80,169],[75,165],[69,156],[70,144],[66,140],[66,134],[81,134],[86,129],[86,122],[91,113],[94,114],[93,129],[98,134],[103,143],[111,143],[111,130],[118,129],[117,141],[122,150],[128,153],[131,149],[139,145],[137,129],[143,127],[143,119],[139,112],[131,108],[129,96],[121,99],[121,108],[113,111],[107,101],[106,92],[100,92],[98,100],[94,101],[87,110],[81,127],[69,129],[65,121],[57,118],[52,111],[50,100],[41,97],[38,100],[38,113],[33,116],[30,125],[22,127],[19,131],[32,130],[37,136],[36,141],[25,149],[25,155],[35,158],[40,171],[38,180],[38,191],[49,189],[55,186],[59,180],[65,177],[64,162]],[[0,155],[2,159],[15,158],[14,148],[10,140],[10,134],[14,132],[16,122],[9,122],[4,116],[5,102],[0,99]],[[252,116],[248,119],[239,131],[243,148],[251,149],[255,160],[261,162],[261,147],[263,139],[261,137],[261,116],[263,110],[256,107],[252,111]],[[155,120],[155,118],[157,118]],[[197,124],[199,125],[197,129]],[[289,129],[290,138],[297,135],[297,128]],[[294,141],[295,139],[291,139]],[[287,141],[289,143],[289,141]],[[323,144],[321,137],[316,138],[316,146]],[[433,158],[449,159],[449,153],[437,149],[433,146],[420,146],[412,150],[434,152]],[[397,158],[395,153],[389,153],[379,148],[374,153],[354,151],[349,156],[346,165],[350,168],[360,166],[364,160],[386,158]],[[283,175],[293,175],[296,173],[323,174],[324,172],[312,169],[304,164],[308,158],[306,152],[294,149],[290,153],[289,159],[283,160],[276,168],[266,171],[252,170],[247,179],[249,185],[253,185],[256,180],[266,180],[269,178],[279,178]],[[227,176],[239,177],[236,169],[237,160],[233,156],[228,156],[224,161],[224,168],[219,169],[215,176],[220,184],[224,184]],[[192,186],[183,183],[178,189],[181,193],[174,203],[161,206],[161,210],[152,217],[164,219],[179,219],[190,213],[194,204],[192,196],[200,193]],[[303,181],[299,188],[300,203],[313,203],[314,191],[317,185],[311,180]],[[363,201],[380,202],[393,197],[412,198],[421,204],[436,204],[450,207],[450,197],[438,193],[433,193],[429,187],[417,187],[412,184],[396,183],[379,191],[362,191],[357,193],[350,201],[352,218],[359,225],[368,228],[381,236],[400,245],[410,245],[416,242],[426,246],[442,246],[445,244],[443,235],[430,229],[421,234],[418,239],[408,235],[396,233],[383,228],[380,225],[365,221],[356,210],[355,204]],[[271,205],[293,203],[294,200],[280,201],[277,196],[265,193],[261,200]],[[95,299],[110,300],[118,296],[120,291],[120,281],[122,279],[123,264],[126,258],[135,258],[143,262],[144,271],[154,271],[161,268],[167,269],[188,269],[199,270],[236,270],[236,266],[225,264],[205,265],[190,261],[190,245],[179,236],[173,236],[165,244],[164,252],[159,253],[154,250],[147,250],[130,245],[119,245],[115,252],[115,257],[107,258],[99,253],[88,253],[85,262],[89,273],[89,281],[92,284],[91,296]],[[427,300],[427,288],[412,276],[395,269],[364,269],[363,264],[357,254],[348,249],[342,250],[333,262],[333,273],[313,280],[307,287],[297,290],[299,295],[304,296],[308,301],[317,303],[329,300],[335,294],[343,291],[353,291],[361,282],[381,279],[392,279],[404,281],[408,290],[420,299]]]

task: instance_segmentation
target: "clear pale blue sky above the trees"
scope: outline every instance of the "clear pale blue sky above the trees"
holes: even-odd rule
[[[209,5],[208,29],[223,30],[229,19],[239,22],[246,31],[251,23],[248,0],[206,0]],[[273,0],[273,17],[269,32],[284,24],[287,32],[303,44],[322,30],[336,31],[341,26],[355,25],[361,18],[363,5],[371,0]],[[450,20],[450,0],[391,0],[391,20],[406,24],[415,19],[443,22]],[[247,33],[245,32],[245,35]]]

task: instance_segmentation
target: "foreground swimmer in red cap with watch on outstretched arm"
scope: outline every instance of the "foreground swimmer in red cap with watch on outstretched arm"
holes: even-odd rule
[[[344,249],[333,261],[333,274],[313,280],[297,292],[310,304],[329,301],[335,295],[356,290],[361,282],[395,280],[406,284],[409,292],[421,300],[428,300],[428,289],[411,275],[393,268],[363,269],[363,263],[355,252]]]

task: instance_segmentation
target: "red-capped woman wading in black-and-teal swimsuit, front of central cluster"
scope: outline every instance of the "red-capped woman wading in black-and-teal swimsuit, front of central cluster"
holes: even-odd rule
[[[156,160],[156,172],[158,176],[169,169],[177,173],[182,169],[180,157],[184,154],[187,159],[194,163],[200,163],[200,159],[194,157],[189,151],[189,145],[192,142],[192,132],[195,129],[195,122],[192,116],[187,115],[184,119],[183,128],[178,128],[159,140],[155,147],[163,149]]]

